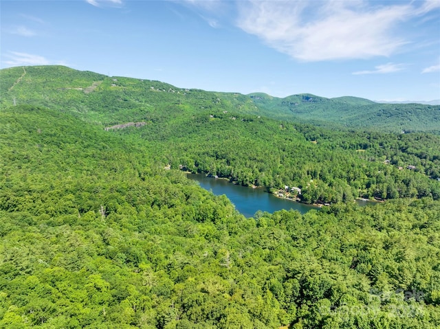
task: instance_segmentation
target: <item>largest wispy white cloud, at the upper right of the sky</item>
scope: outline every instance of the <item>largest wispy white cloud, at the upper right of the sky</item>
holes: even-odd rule
[[[431,3],[431,2],[436,2]],[[408,43],[394,28],[438,8],[428,1],[371,5],[366,1],[242,1],[237,25],[303,61],[391,56]]]

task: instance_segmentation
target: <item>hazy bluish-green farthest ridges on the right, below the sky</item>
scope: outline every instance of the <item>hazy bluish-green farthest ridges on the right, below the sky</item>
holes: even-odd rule
[[[362,128],[371,131],[409,133],[440,132],[440,106],[380,104],[363,98],[322,98],[301,94],[287,98],[250,95],[256,106],[283,120],[301,120],[319,126]]]

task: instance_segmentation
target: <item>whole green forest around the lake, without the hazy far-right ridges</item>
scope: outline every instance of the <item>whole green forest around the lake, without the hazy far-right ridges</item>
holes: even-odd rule
[[[438,135],[65,67],[0,73],[0,328],[439,328]],[[181,170],[331,206],[245,218]]]

